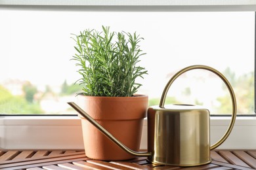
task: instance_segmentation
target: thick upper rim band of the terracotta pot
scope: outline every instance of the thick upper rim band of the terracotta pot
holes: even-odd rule
[[[101,97],[77,95],[77,102],[95,120],[135,120],[146,117],[148,95]]]

